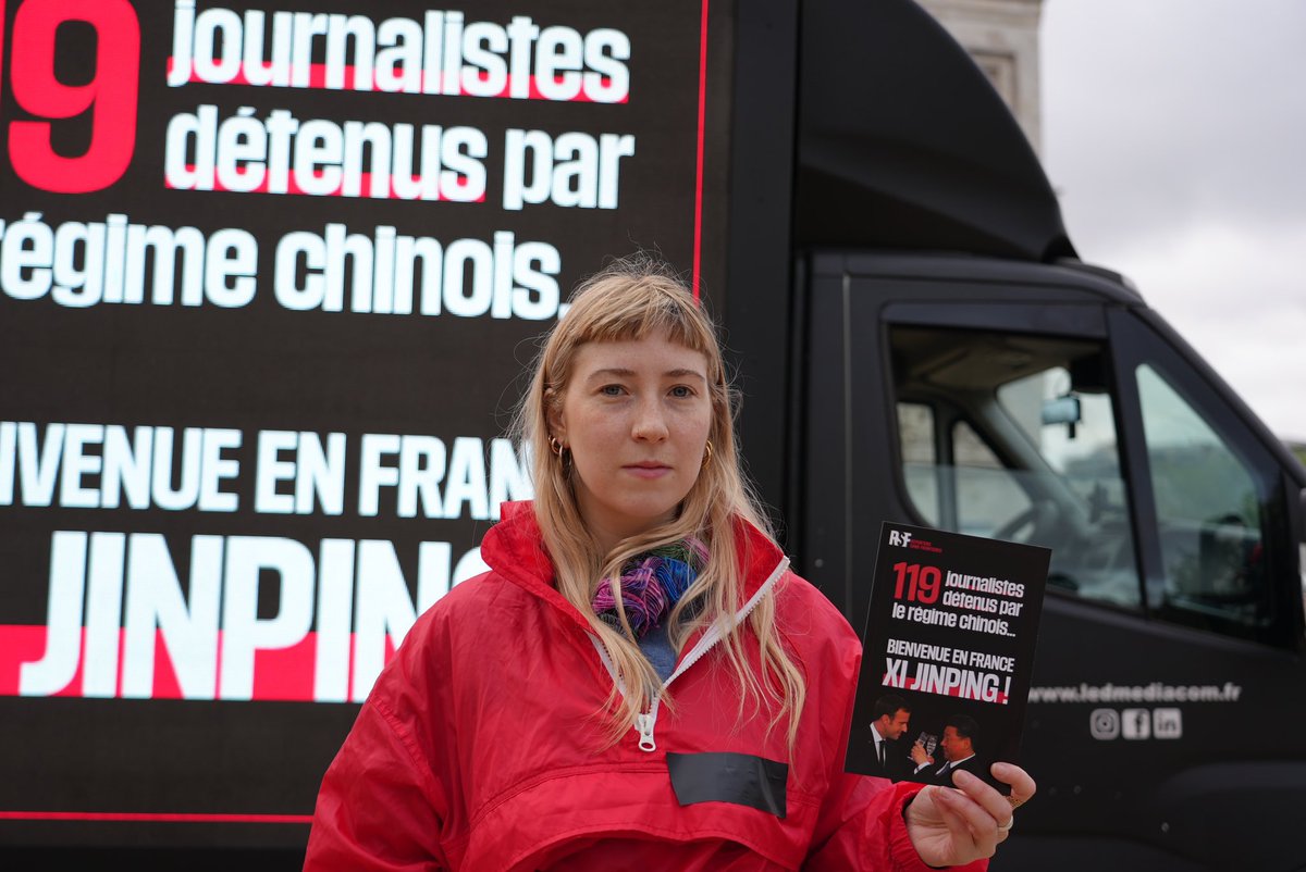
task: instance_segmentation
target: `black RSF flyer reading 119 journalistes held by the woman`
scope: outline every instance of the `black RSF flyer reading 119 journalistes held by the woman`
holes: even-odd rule
[[[880,530],[845,769],[951,785],[1020,764],[1051,551],[906,523]]]

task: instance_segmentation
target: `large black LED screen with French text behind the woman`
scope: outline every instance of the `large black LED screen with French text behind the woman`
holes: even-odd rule
[[[0,0],[0,843],[302,843],[569,288],[717,269],[714,7]]]

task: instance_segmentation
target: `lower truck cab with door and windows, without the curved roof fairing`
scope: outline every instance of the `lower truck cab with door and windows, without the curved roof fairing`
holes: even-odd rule
[[[810,493],[803,546],[846,568],[854,623],[858,523],[1051,548],[1023,749],[1040,796],[1003,868],[1298,868],[1301,469],[1135,295],[1027,266],[814,273],[807,335],[842,329],[812,346],[807,439],[844,452],[810,441],[808,471],[842,469],[852,526],[832,537]]]

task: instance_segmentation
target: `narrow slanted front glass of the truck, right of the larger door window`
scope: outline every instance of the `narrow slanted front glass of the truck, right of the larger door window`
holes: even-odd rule
[[[1143,364],[1135,376],[1165,569],[1162,614],[1268,623],[1256,478],[1157,369]]]

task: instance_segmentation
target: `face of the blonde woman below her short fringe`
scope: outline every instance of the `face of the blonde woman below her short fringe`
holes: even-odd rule
[[[581,518],[603,551],[675,514],[712,427],[708,362],[666,335],[576,351],[554,437],[571,449]]]

